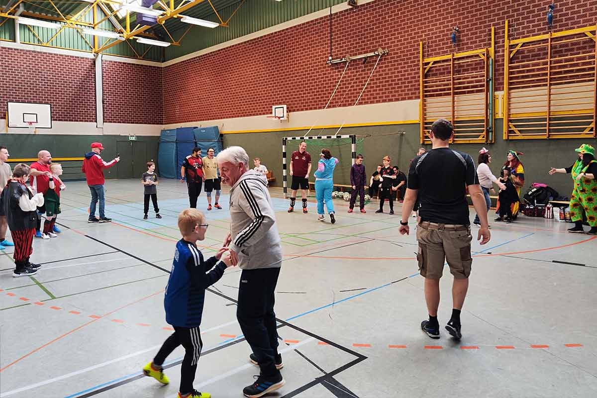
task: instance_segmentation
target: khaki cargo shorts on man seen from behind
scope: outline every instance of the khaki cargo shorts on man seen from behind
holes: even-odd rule
[[[456,279],[470,275],[473,259],[470,257],[470,226],[436,224],[421,221],[417,227],[418,269],[421,276],[439,279],[444,273],[444,263]]]

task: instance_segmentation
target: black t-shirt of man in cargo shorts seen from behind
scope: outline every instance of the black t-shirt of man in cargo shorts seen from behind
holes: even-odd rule
[[[413,159],[408,188],[417,189],[421,220],[469,225],[466,186],[479,184],[469,154],[449,148],[432,149]]]

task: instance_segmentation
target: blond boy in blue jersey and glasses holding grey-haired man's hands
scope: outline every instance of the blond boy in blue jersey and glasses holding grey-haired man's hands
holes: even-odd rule
[[[210,394],[200,393],[193,388],[197,361],[203,347],[199,325],[205,289],[220,280],[224,270],[232,266],[232,260],[230,255],[226,255],[216,265],[222,254],[229,250],[221,248],[214,257],[204,261],[196,242],[205,239],[207,227],[203,213],[197,209],[184,209],[179,214],[179,230],[183,239],[176,243],[172,271],[164,297],[166,322],[174,327],[174,333],[164,341],[153,361],[143,368],[146,376],[151,376],[162,384],[168,384],[162,364],[172,351],[182,345],[185,353],[180,369],[179,398],[211,397]]]

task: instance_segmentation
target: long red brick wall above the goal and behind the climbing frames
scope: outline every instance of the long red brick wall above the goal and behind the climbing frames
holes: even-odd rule
[[[504,20],[510,38],[547,33],[546,1],[378,0],[333,15],[334,58],[383,47],[359,104],[418,98],[418,42],[424,56],[489,47],[496,27],[496,90],[503,89]],[[553,31],[597,21],[594,0],[556,2]],[[453,26],[460,28],[456,48]],[[164,68],[164,123],[265,115],[273,104],[289,112],[321,109],[344,69],[325,64],[330,52],[328,17],[261,36]],[[330,107],[350,106],[373,66],[354,62]]]

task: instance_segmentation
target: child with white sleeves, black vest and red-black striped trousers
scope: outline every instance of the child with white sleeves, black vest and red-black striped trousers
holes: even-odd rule
[[[44,194],[36,193],[27,187],[30,167],[24,163],[14,166],[13,177],[2,190],[2,206],[14,241],[13,277],[29,276],[41,267],[29,261],[33,253],[33,235],[37,221],[37,208],[44,205]]]

